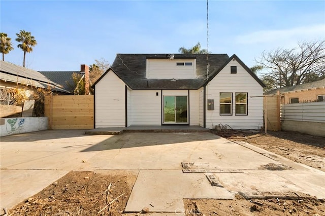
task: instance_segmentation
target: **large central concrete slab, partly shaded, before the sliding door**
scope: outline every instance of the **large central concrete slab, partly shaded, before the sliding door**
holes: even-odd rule
[[[118,142],[107,145],[107,151],[102,148],[103,151],[78,170],[182,169],[181,162],[206,162],[214,169],[253,170],[268,163],[280,164],[210,133],[170,133],[168,139],[165,133],[127,133],[119,136],[121,139]]]

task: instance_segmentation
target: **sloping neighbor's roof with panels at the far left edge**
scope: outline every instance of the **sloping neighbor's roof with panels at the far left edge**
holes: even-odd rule
[[[18,82],[39,88],[52,88],[54,91],[68,92],[36,70],[21,67],[10,62],[0,60],[0,78],[5,81]]]

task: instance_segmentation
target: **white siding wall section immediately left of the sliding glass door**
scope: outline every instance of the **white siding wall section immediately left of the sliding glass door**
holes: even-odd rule
[[[161,125],[161,91],[132,90],[130,120],[130,125]]]

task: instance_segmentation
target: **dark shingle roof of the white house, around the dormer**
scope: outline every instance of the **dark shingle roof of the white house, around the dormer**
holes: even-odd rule
[[[197,77],[193,79],[149,79],[146,78],[146,60],[164,59],[166,54],[117,54],[111,66],[95,83],[98,83],[106,73],[112,70],[131,89],[199,89],[207,84],[207,54],[174,54],[175,59],[196,59]],[[265,87],[264,83],[236,56],[227,54],[209,54],[209,81],[232,59],[236,59],[256,81]],[[172,77],[171,77],[172,78]]]

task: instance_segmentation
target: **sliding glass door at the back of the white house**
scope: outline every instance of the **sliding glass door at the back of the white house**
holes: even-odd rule
[[[164,96],[164,123],[187,122],[187,96]]]

